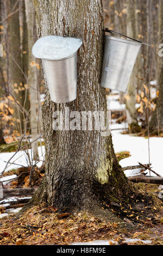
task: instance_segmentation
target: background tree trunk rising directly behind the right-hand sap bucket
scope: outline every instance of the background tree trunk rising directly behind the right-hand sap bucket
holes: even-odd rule
[[[127,35],[136,38],[135,26],[135,0],[127,0]],[[130,77],[127,87],[126,114],[129,125],[129,132],[135,133],[140,131],[137,123],[136,103],[136,65]]]

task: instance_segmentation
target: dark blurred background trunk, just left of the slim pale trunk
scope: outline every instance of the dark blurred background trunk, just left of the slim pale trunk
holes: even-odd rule
[[[17,0],[9,0],[9,14],[18,7]],[[15,13],[9,18],[9,91],[14,95],[15,100],[23,107],[23,91],[22,91],[22,67],[21,67],[21,45],[20,45],[20,23],[19,15]],[[14,106],[14,117],[17,123],[17,129],[22,133],[23,129],[23,109]]]

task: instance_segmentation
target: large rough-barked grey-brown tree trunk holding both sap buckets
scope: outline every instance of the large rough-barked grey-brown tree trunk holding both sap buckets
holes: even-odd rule
[[[59,211],[98,208],[105,200],[128,200],[133,187],[116,159],[111,136],[99,131],[53,131],[53,111],[106,111],[105,89],[99,87],[103,59],[103,11],[100,0],[35,0],[39,36],[83,39],[78,52],[78,97],[43,104],[46,173],[30,204],[46,202]],[[101,208],[100,208],[101,209]]]

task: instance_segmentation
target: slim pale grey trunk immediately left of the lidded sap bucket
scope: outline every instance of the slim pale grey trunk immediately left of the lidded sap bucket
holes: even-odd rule
[[[27,18],[27,28],[28,28],[28,60],[29,60],[29,77],[28,84],[29,94],[30,94],[30,128],[32,133],[32,150],[33,159],[38,158],[37,140],[39,138],[37,131],[37,68],[36,60],[32,55],[32,46],[34,45],[34,26],[35,26],[35,16],[34,16],[34,6],[32,0],[25,0],[26,5],[26,18]]]

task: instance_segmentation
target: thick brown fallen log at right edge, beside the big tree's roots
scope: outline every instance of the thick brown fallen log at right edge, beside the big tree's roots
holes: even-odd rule
[[[155,177],[155,176],[145,176],[145,175],[137,175],[128,177],[130,181],[135,183],[143,182],[143,183],[151,183],[151,184],[162,184],[163,185],[163,177]]]

